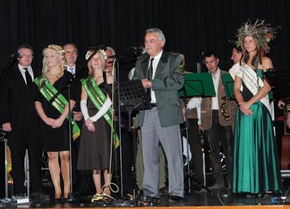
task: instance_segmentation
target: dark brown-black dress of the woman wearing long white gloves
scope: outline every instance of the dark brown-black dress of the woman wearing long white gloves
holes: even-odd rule
[[[105,83],[99,84],[98,87],[105,95],[111,89],[110,85]],[[87,107],[88,115],[93,116],[98,113],[97,108],[95,108],[89,98]],[[112,162],[111,168],[114,167],[114,146],[111,145],[111,127],[103,117],[94,122],[94,125],[95,132],[88,131],[85,123],[81,129],[81,143],[77,160],[78,170],[109,169],[110,161]]]

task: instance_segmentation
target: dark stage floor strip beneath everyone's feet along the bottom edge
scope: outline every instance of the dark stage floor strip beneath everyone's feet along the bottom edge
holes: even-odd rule
[[[285,196],[285,193],[283,194]],[[195,206],[197,208],[289,208],[290,197],[286,196],[285,201],[281,200],[281,196],[274,197],[246,197],[230,194],[228,189],[213,190],[212,193],[194,193],[185,194],[184,202],[172,203],[169,202],[168,196],[161,196],[159,205],[147,205],[150,208],[187,208]],[[15,204],[15,203],[0,203],[0,208],[140,208],[145,205],[129,201],[128,198],[117,198],[107,205],[95,205],[91,203],[91,197],[78,198],[76,202],[62,203],[31,203],[31,204]]]

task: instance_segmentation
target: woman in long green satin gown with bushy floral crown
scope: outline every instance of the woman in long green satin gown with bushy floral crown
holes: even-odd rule
[[[282,192],[280,163],[268,99],[271,87],[263,80],[263,71],[273,68],[273,65],[270,58],[264,56],[263,44],[268,44],[267,40],[263,42],[265,36],[258,36],[258,32],[267,32],[262,29],[270,29],[270,32],[273,29],[263,25],[263,22],[261,24],[246,23],[246,27],[242,25],[239,29],[237,37],[242,42],[244,56],[230,70],[235,77],[234,94],[239,103],[232,192],[249,196],[272,196],[273,193]]]

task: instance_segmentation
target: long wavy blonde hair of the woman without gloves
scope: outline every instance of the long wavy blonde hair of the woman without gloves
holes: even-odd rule
[[[42,78],[41,78],[41,82],[47,77],[49,69],[46,65],[46,52],[47,51],[55,51],[58,55],[58,57],[61,59],[59,65],[58,65],[58,73],[56,75],[57,78],[62,77],[62,75],[64,74],[65,71],[65,50],[62,49],[61,46],[58,45],[48,45],[43,51],[42,51],[42,55],[44,56],[43,58],[43,68],[42,68]]]

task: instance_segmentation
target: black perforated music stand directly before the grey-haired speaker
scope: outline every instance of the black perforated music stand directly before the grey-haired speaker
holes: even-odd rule
[[[131,115],[134,110],[151,109],[141,80],[120,82],[120,111],[127,112],[129,116],[129,130],[131,130]],[[118,94],[116,92],[116,94]]]

